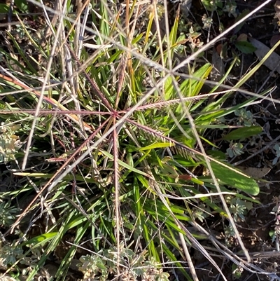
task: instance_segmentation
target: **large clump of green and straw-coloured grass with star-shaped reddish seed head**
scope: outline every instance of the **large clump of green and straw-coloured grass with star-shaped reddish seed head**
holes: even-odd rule
[[[21,23],[40,61],[18,44],[11,48],[20,53],[22,62],[9,64],[13,57],[4,54],[8,69],[1,74],[5,98],[0,114],[8,120],[1,130],[8,128],[8,133],[3,134],[1,154],[16,170],[13,177],[21,180],[3,195],[24,206],[11,228],[5,228],[6,245],[24,249],[16,261],[6,264],[7,270],[16,268],[22,274],[18,263],[36,253],[25,270],[27,280],[33,280],[60,249],[56,280],[65,279],[73,259],[80,259],[83,277],[94,280],[117,276],[168,280],[170,267],[179,268],[187,280],[197,280],[189,252],[194,247],[225,279],[198,240],[206,234],[219,251],[225,251],[204,228],[209,217],[227,221],[250,266],[235,221],[244,215],[239,203],[258,203],[253,198],[258,184],[232,167],[209,136],[218,129],[232,129],[225,117],[243,112],[266,94],[224,106],[232,93],[242,91],[241,85],[258,66],[234,88],[223,82],[236,59],[220,82],[209,81],[212,66],[199,54],[214,42],[194,44],[191,28],[188,39],[180,34],[179,11],[166,25],[165,1],[160,6],[155,1],[126,1],[120,6],[85,1],[77,3],[75,18],[73,11],[71,1],[59,4],[57,11],[45,7],[45,22],[51,21],[50,12],[58,18],[49,26],[52,35],[45,38],[44,48],[41,39],[32,36],[33,30]],[[16,42],[15,36],[8,36]],[[189,51],[192,55],[176,66],[176,54]],[[31,62],[43,65],[43,77]],[[188,73],[179,72],[184,64]],[[202,94],[205,84],[214,88]],[[224,90],[217,92],[218,88]],[[242,139],[245,131],[249,138],[262,130],[251,123],[241,125],[247,125],[246,130],[233,127],[223,140]],[[28,224],[27,214],[33,216]],[[193,228],[200,234],[189,230]],[[8,239],[10,232],[18,238]],[[89,252],[81,254],[82,248]],[[240,264],[229,250],[227,256]]]

